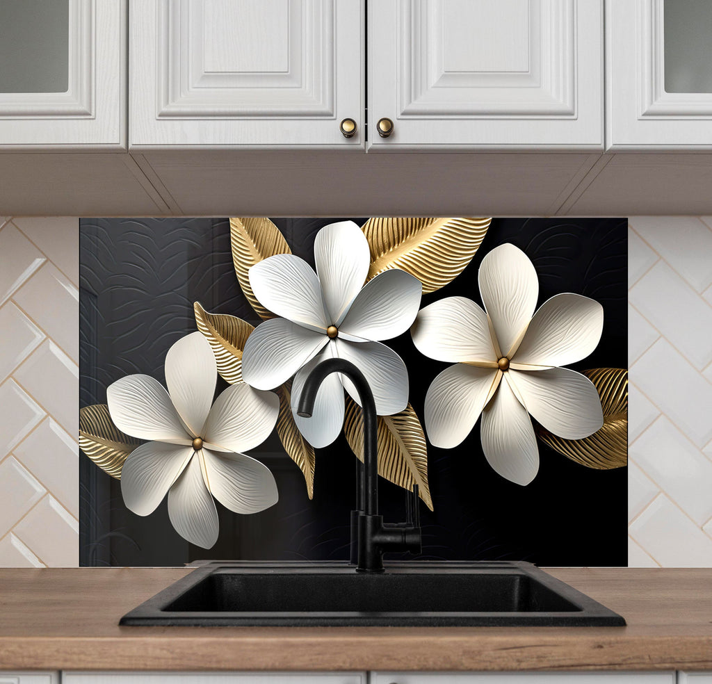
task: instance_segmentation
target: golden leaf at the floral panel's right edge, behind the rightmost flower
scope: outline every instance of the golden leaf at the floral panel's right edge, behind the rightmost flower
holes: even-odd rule
[[[610,470],[628,463],[628,371],[595,368],[584,371],[595,385],[603,408],[603,427],[583,439],[562,439],[541,426],[541,440],[587,468]]]

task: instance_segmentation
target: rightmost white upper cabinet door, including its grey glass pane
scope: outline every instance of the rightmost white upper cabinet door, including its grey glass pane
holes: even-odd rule
[[[712,149],[712,3],[607,0],[607,149]]]

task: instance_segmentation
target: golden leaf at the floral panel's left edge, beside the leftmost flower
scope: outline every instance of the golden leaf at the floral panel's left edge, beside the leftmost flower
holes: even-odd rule
[[[121,479],[124,461],[142,443],[114,425],[106,404],[79,409],[79,448],[112,478]]]

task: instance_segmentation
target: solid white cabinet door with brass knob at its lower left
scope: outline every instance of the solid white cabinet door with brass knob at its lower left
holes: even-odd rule
[[[368,8],[369,149],[602,149],[602,0]]]

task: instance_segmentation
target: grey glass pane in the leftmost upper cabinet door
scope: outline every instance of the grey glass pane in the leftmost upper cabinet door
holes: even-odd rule
[[[65,93],[69,0],[0,2],[0,93]]]

